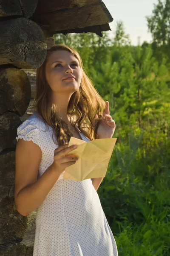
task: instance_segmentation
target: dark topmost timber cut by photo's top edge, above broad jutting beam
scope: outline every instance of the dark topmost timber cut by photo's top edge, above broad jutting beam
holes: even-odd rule
[[[101,0],[39,0],[35,14],[54,12],[60,9],[70,9],[73,7],[82,7],[89,4],[101,3]]]

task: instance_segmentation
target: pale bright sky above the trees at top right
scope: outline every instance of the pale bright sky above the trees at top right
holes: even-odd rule
[[[116,30],[116,22],[123,21],[125,34],[129,34],[131,44],[138,44],[140,37],[140,45],[144,41],[150,43],[152,36],[148,32],[146,16],[152,15],[154,4],[158,4],[158,0],[103,0],[105,6],[111,13],[113,21],[109,23],[111,35]]]

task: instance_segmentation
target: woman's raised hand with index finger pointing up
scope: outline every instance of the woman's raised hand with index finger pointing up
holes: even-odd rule
[[[96,114],[96,117],[98,117],[97,114]],[[94,128],[95,128],[95,122],[94,122]],[[110,116],[109,102],[107,101],[106,107],[102,114],[102,119],[97,129],[98,139],[112,138],[115,128],[116,128],[116,124],[112,119],[112,117]]]

